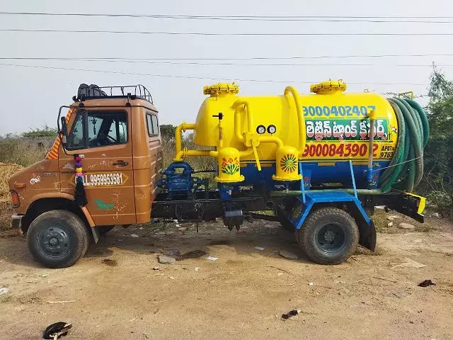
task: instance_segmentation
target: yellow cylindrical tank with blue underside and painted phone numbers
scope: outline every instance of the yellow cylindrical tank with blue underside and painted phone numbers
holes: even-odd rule
[[[175,160],[189,155],[217,157],[217,181],[245,180],[244,184],[256,183],[257,171],[263,169],[274,181],[299,180],[302,161],[309,186],[350,179],[345,162],[351,159],[360,183],[369,159],[369,113],[374,113],[372,158],[377,169],[394,156],[398,123],[383,96],[347,94],[345,89],[343,81],[323,81],[311,85],[313,94],[299,95],[287,86],[276,96],[241,97],[236,84],[205,86],[210,97],[202,103],[195,124],[180,125],[176,137],[180,130],[193,129],[196,145],[216,150],[183,150],[177,140]]]

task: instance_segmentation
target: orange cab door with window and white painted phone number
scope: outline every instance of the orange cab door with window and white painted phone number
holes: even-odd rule
[[[88,211],[96,225],[136,222],[130,108],[79,110],[70,122],[67,153],[59,148],[62,192],[74,195],[74,154],[82,158]]]

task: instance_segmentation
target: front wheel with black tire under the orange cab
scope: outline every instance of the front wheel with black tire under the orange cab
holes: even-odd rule
[[[86,253],[88,230],[79,216],[67,210],[50,210],[31,222],[28,250],[48,268],[70,267]]]

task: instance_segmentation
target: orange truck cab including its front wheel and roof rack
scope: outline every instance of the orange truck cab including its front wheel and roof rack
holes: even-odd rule
[[[67,115],[45,159],[9,181],[13,227],[51,267],[83,256],[90,229],[97,242],[114,225],[149,222],[162,166],[158,113],[144,86],[82,84],[73,99],[60,108]],[[78,178],[86,204],[77,204]]]

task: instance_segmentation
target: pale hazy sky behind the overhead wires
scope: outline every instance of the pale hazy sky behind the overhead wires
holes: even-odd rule
[[[0,14],[0,58],[116,57],[146,58],[148,61],[151,58],[162,58],[163,60],[159,62],[185,62],[185,64],[151,64],[1,59],[0,100],[4,107],[0,111],[0,135],[20,133],[43,125],[55,127],[59,107],[72,102],[71,98],[76,94],[81,83],[99,86],[143,84],[151,91],[154,105],[159,110],[160,123],[178,125],[182,121],[187,123],[195,121],[197,111],[205,98],[202,93],[203,86],[218,81],[236,81],[241,89],[240,94],[246,96],[282,94],[287,85],[296,86],[300,93],[306,94],[309,92],[309,84],[328,79],[343,79],[348,84],[348,91],[353,92],[368,90],[384,94],[414,91],[415,95],[425,95],[428,94],[432,62],[440,65],[440,69],[449,79],[453,78],[453,35],[154,35],[1,31],[57,29],[180,33],[453,33],[453,3],[449,0],[79,0],[75,2],[0,0],[0,12],[23,11],[168,16],[412,16],[414,18],[450,16],[450,18],[419,19],[443,20],[449,23],[401,22],[407,21],[408,18],[400,19],[400,22],[396,23],[376,23]],[[417,54],[434,56],[202,60],[203,58]],[[450,56],[439,56],[446,54]],[[169,60],[169,58],[195,58],[195,60],[181,61]],[[205,64],[188,64],[188,62]],[[18,67],[11,64],[33,67]],[[420,103],[425,105],[428,100],[426,97],[420,98]]]

